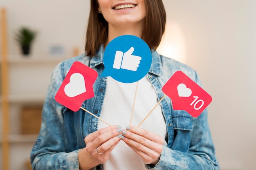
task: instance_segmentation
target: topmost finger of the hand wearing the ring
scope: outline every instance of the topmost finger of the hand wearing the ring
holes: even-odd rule
[[[85,137],[85,144],[89,144],[92,141],[94,141],[98,136],[100,136],[100,135],[102,135],[106,132],[111,132],[112,130],[115,130],[115,129],[118,129],[118,128],[121,128],[121,126],[120,125],[109,126],[109,127],[106,127],[106,128],[99,129],[95,132],[92,132],[92,133],[90,133],[89,135],[87,135]]]

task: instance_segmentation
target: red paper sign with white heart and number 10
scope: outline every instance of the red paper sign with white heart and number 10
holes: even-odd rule
[[[174,110],[185,110],[198,117],[212,97],[182,71],[177,71],[164,84],[162,91],[172,99]]]

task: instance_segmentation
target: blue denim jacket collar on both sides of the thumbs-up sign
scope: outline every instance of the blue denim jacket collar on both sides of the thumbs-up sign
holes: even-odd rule
[[[103,44],[99,47],[99,50],[97,50],[96,55],[92,57],[90,61],[90,67],[98,66],[99,64],[103,64],[103,54],[104,54],[104,46]],[[160,76],[162,74],[161,72],[161,57],[157,53],[157,51],[152,50],[152,64],[149,69],[149,73],[155,74],[157,76]]]

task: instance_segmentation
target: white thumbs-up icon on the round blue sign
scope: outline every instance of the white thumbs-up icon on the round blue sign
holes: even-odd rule
[[[137,71],[141,57],[132,55],[134,48],[131,47],[125,53],[122,51],[116,51],[113,68],[125,69],[130,71]]]

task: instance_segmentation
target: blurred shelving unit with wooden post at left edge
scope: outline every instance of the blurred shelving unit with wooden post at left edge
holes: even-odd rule
[[[59,62],[71,58],[68,56],[51,56],[48,54],[9,55],[7,43],[6,10],[0,9],[0,169],[20,169],[24,166],[23,161],[29,158],[31,147],[36,141],[38,134],[22,135],[20,114],[23,105],[42,105],[45,96],[49,76],[52,69]],[[28,112],[25,112],[28,113]],[[34,122],[28,120],[28,122]],[[39,119],[38,119],[39,120]],[[36,122],[38,126],[40,125]],[[31,128],[32,129],[32,128]],[[24,131],[27,132],[28,131]],[[35,133],[31,132],[31,133]],[[10,134],[11,133],[11,134]],[[11,163],[15,160],[15,168]]]

